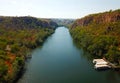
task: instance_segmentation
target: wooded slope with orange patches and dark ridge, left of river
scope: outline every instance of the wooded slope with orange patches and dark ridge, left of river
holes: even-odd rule
[[[12,83],[30,51],[58,25],[48,19],[0,16],[0,83]]]

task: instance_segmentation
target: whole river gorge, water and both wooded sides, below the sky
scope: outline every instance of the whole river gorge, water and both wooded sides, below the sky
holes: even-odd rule
[[[92,64],[119,66],[119,37],[119,9],[76,20],[0,16],[0,83],[16,82],[24,68],[18,83],[119,83],[119,71]]]

